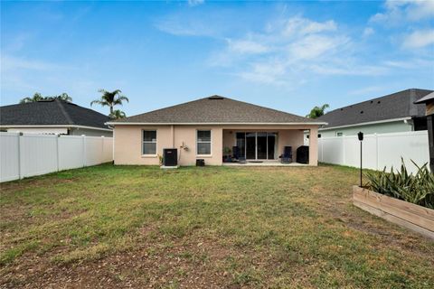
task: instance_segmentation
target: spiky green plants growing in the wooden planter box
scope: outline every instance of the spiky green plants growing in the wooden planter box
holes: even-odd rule
[[[411,163],[414,163],[411,161]],[[391,196],[396,199],[409,201],[413,204],[434,209],[434,174],[429,172],[428,163],[421,167],[416,163],[418,172],[414,175],[407,172],[401,159],[401,170],[386,172],[367,172],[368,186],[372,191]]]

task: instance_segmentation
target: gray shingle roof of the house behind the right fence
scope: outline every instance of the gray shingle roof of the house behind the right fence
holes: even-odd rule
[[[402,117],[424,117],[425,106],[414,102],[431,92],[432,90],[427,89],[406,89],[381,98],[337,108],[316,119],[328,123],[324,128],[329,128]]]

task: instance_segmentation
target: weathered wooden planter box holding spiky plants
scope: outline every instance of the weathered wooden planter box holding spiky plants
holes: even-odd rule
[[[434,210],[353,186],[354,206],[434,239]]]

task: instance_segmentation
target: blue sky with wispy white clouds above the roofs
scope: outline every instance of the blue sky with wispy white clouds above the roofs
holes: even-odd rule
[[[306,115],[409,88],[434,89],[434,1],[1,3],[2,106],[122,89],[128,116],[213,94]]]

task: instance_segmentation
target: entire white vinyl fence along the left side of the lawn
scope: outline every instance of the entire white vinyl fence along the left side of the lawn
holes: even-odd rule
[[[112,160],[112,137],[0,132],[0,182]]]

